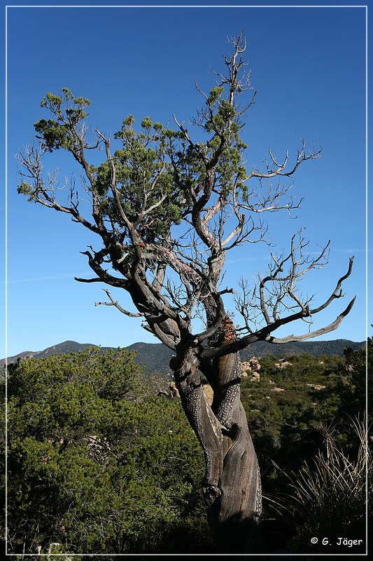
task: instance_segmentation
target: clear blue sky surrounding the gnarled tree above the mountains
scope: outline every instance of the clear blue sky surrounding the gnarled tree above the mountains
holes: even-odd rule
[[[30,6],[10,7],[7,15],[8,201],[5,209],[1,199],[1,210],[8,218],[8,356],[66,339],[102,346],[157,342],[139,320],[95,307],[105,297],[98,283],[73,279],[91,276],[80,255],[92,243],[85,229],[16,193],[13,154],[32,141],[33,123],[48,118],[43,95],[66,86],[88,97],[89,122],[106,133],[129,113],[138,121],[150,115],[172,123],[173,113],[188,121],[202,106],[195,81],[203,90],[215,85],[211,69],[222,69],[227,36],[241,29],[258,91],[246,119],[248,164],[259,165],[268,147],[279,158],[286,149],[294,154],[297,136],[323,147],[322,158],[304,163],[295,176],[294,194],[304,196],[297,219],[267,217],[276,250],[287,248],[300,227],[310,251],[331,240],[330,264],[306,286],[320,295],[316,302],[334,290],[355,255],[346,297],[318,314],[314,327],[330,323],[357,295],[342,326],[321,338],[365,339],[365,8]],[[63,180],[73,166],[58,156]],[[227,282],[234,283],[265,270],[268,250],[246,246],[227,262]],[[120,302],[129,306],[124,292]],[[288,333],[304,330],[290,326]]]

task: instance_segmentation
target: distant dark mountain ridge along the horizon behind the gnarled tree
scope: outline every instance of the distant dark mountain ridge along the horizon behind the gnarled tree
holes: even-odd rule
[[[304,341],[295,343],[284,344],[271,344],[264,341],[258,341],[251,344],[247,349],[240,352],[242,360],[248,360],[253,356],[281,356],[281,355],[296,355],[302,353],[309,353],[313,356],[319,355],[337,355],[343,356],[344,349],[351,347],[354,351],[365,346],[363,342],[353,342],[349,339],[333,339],[332,341]],[[97,346],[91,343],[77,343],[76,341],[64,341],[57,345],[53,345],[44,349],[43,351],[23,351],[15,356],[8,357],[8,364],[14,363],[18,358],[43,358],[51,355],[59,355],[62,353],[78,353],[85,351],[90,346]],[[116,347],[101,347],[103,350],[116,349]],[[136,351],[136,363],[144,367],[144,373],[152,374],[153,372],[160,372],[162,374],[169,374],[169,360],[174,354],[171,349],[164,346],[162,343],[134,343],[125,347],[128,351]],[[6,359],[0,360],[0,370],[5,367]]]

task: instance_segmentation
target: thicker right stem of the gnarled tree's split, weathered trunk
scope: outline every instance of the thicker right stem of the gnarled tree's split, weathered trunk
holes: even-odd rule
[[[225,317],[212,346],[236,339],[232,320]],[[241,360],[239,353],[202,361],[201,370],[213,388],[212,410],[223,433],[223,470],[220,500],[209,509],[214,541],[222,553],[250,553],[255,548],[262,511],[258,459],[241,404]]]

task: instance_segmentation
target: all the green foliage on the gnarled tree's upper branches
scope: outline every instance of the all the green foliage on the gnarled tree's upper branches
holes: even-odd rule
[[[48,109],[52,119],[41,119],[34,128],[41,153],[66,149],[83,166],[87,188],[97,197],[100,217],[122,231],[120,243],[125,237],[129,241],[127,219],[136,224],[144,242],[159,243],[169,236],[171,227],[190,215],[192,201],[202,189],[207,193],[214,187],[223,200],[233,191],[241,192],[247,202],[243,163],[247,146],[239,136],[243,111],[235,107],[231,95],[224,86],[216,86],[205,96],[206,106],[198,111],[197,119],[192,119],[194,126],[209,135],[202,142],[192,142],[183,126],[172,130],[153,122],[150,116],[142,119],[136,131],[130,114],[114,135],[122,146],[109,156],[110,142],[98,130],[92,144],[87,140],[85,109],[90,100],[75,97],[68,88],[63,88],[60,95],[48,92],[43,97],[41,107]],[[105,144],[106,159],[99,165],[90,165],[86,150],[100,144]],[[36,175],[34,185],[28,179],[22,180],[18,193],[29,200],[50,203],[48,189],[41,181],[41,168]],[[75,208],[73,212],[78,211]]]

